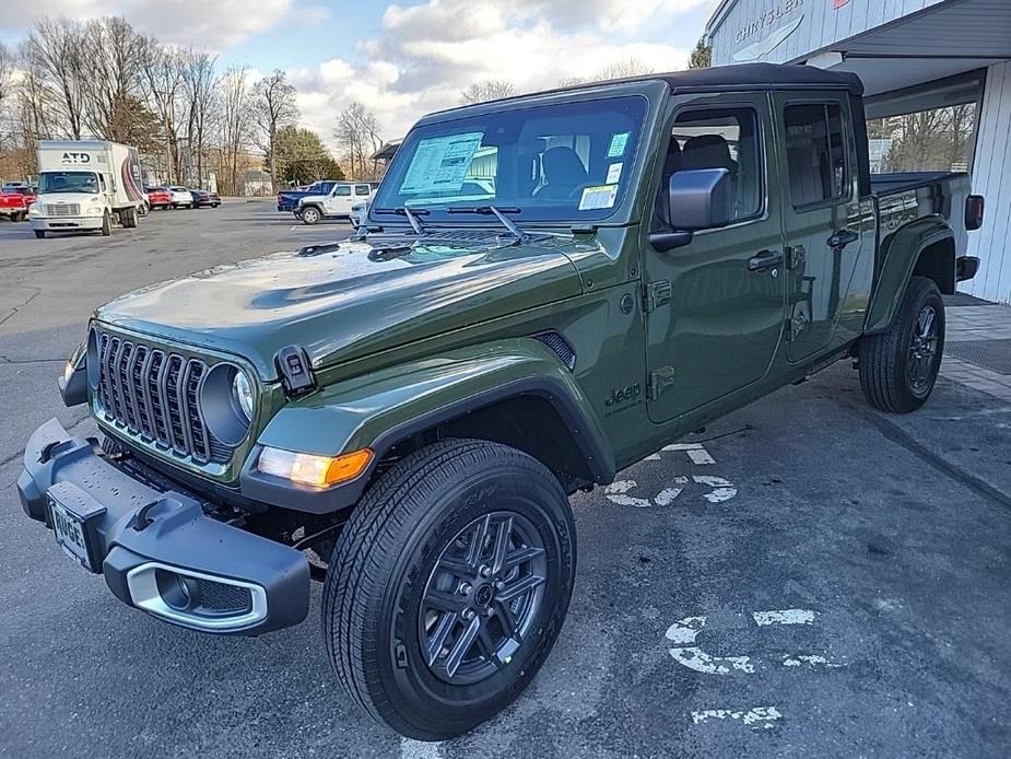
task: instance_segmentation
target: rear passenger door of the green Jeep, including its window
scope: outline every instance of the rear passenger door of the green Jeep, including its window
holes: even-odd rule
[[[837,326],[853,307],[846,301],[861,250],[873,242],[859,201],[848,95],[781,92],[774,102],[783,147],[786,355],[793,363],[851,337]]]

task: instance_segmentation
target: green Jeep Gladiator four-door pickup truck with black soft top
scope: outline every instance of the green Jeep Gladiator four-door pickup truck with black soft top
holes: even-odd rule
[[[567,497],[839,359],[930,395],[963,174],[869,173],[850,74],[749,65],[423,118],[354,238],[99,307],[24,511],[124,603],[309,611],[351,698],[440,739],[514,700],[576,579]]]

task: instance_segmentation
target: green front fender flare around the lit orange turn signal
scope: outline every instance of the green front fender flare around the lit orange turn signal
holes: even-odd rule
[[[260,433],[243,470],[243,494],[313,513],[350,506],[361,497],[376,463],[398,442],[519,395],[538,395],[551,402],[595,479],[613,478],[613,452],[573,374],[542,342],[516,338],[356,376],[292,401]],[[356,480],[316,490],[257,471],[262,446],[321,456],[368,447],[376,455]]]

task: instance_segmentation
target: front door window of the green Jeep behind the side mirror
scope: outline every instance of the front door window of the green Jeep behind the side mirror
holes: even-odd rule
[[[661,192],[677,171],[726,168],[730,173],[731,219],[759,215],[764,206],[759,137],[759,115],[753,108],[682,112],[671,133]]]

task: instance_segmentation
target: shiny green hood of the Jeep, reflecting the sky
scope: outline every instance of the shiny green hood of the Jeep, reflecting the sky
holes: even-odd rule
[[[245,357],[274,380],[273,357],[302,346],[313,366],[395,348],[581,293],[569,237],[493,234],[410,247],[342,242],[209,269],[118,297],[96,317]]]

